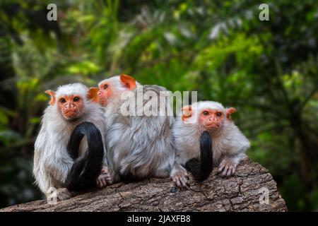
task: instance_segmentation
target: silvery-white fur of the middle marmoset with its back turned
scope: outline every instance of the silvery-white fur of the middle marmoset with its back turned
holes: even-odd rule
[[[107,150],[110,166],[114,171],[114,181],[120,174],[128,174],[136,178],[169,177],[175,161],[170,128],[175,119],[173,117],[123,116],[120,107],[123,88],[119,76],[105,80],[112,88],[113,96],[107,100],[105,107],[105,121],[107,121]],[[102,81],[99,85],[104,83]],[[139,83],[134,90],[133,98],[139,90]],[[158,85],[143,85],[143,91],[160,93],[165,88]],[[136,103],[137,104],[137,103]],[[145,105],[145,102],[143,103]],[[164,106],[170,111],[170,106]]]

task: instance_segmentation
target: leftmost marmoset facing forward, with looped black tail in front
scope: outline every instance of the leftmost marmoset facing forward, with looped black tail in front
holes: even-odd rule
[[[47,196],[51,188],[57,189],[59,200],[95,186],[102,189],[107,185],[108,167],[98,88],[73,83],[45,93],[51,100],[35,141],[36,184]]]

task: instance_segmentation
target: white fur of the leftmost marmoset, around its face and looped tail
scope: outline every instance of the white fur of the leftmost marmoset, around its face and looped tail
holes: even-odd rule
[[[40,133],[35,141],[33,167],[35,182],[43,193],[46,193],[49,187],[59,189],[64,186],[66,175],[73,164],[73,159],[67,153],[66,146],[75,126],[83,121],[90,121],[100,129],[102,134],[105,134],[103,111],[98,103],[88,100],[87,92],[88,88],[81,83],[62,85],[56,92],[55,104],[49,105],[45,109]],[[83,98],[84,108],[80,118],[76,121],[64,119],[57,108],[59,95],[80,95]],[[80,153],[86,149],[87,142],[84,138],[81,142]],[[103,165],[107,165],[105,148]]]

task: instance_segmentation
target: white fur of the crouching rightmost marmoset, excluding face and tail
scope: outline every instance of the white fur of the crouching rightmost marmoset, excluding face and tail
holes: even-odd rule
[[[197,111],[193,112],[192,117],[199,117],[199,112],[203,109],[218,109],[226,115],[225,107],[219,102],[204,101],[192,105],[192,111]],[[187,124],[178,117],[172,129],[175,138],[176,162],[181,165],[200,155],[200,136],[205,129],[197,123],[197,118],[192,121],[194,123]],[[222,126],[222,129],[213,133],[212,136],[213,163],[218,165],[225,157],[231,157],[238,164],[242,158],[246,157],[246,150],[250,146],[249,141],[232,120],[225,117]]]

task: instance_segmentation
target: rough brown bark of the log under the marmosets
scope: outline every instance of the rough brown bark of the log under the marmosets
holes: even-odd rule
[[[265,189],[264,189],[265,188]],[[268,170],[243,160],[229,178],[216,168],[203,184],[191,180],[188,190],[172,193],[170,179],[148,179],[131,184],[113,184],[100,191],[73,197],[57,204],[33,201],[1,211],[286,211],[285,201]],[[260,203],[269,191],[269,204]],[[261,198],[261,200],[265,200]]]

